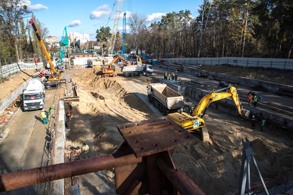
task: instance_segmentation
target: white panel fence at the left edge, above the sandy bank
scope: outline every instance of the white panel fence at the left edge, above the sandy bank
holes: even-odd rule
[[[8,64],[8,65],[2,66],[2,75],[5,78],[8,75],[11,75],[21,70],[35,70],[37,68],[42,68],[42,67],[44,67],[42,62],[39,62],[38,65],[35,65],[35,63],[24,63],[24,62]],[[2,75],[0,76],[2,77]]]

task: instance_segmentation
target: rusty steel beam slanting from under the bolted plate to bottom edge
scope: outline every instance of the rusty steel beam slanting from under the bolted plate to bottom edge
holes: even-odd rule
[[[181,195],[205,195],[175,163],[176,169],[174,169],[170,161],[166,160],[166,156],[160,156],[157,165]]]

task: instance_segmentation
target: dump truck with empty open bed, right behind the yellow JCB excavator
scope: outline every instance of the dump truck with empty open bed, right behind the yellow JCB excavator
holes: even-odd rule
[[[157,107],[164,116],[180,110],[184,105],[183,96],[166,84],[150,83],[147,86],[147,95],[149,102],[153,103],[153,106]]]

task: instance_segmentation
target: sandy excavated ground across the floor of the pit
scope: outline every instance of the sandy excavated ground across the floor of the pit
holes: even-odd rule
[[[158,117],[124,84],[133,82],[134,78],[123,77],[120,68],[116,70],[118,77],[107,79],[101,77],[98,66],[74,66],[72,71],[66,73],[77,82],[80,96],[79,102],[73,102],[75,118],[70,121],[67,137],[74,146],[82,147],[84,142],[88,144],[90,157],[111,154],[118,149],[123,138],[117,125]],[[1,89],[5,89],[4,85],[0,84]],[[194,99],[190,101],[198,103]],[[249,121],[213,108],[209,108],[205,120],[210,141],[177,148],[172,156],[205,194],[234,194],[238,191],[243,149],[241,139],[245,137],[254,140],[254,156],[265,181],[292,172],[293,141],[282,130],[265,126],[264,131],[260,132],[260,121],[252,130]],[[81,153],[82,158],[84,153]],[[80,175],[79,178],[82,194],[115,194],[114,169]],[[252,161],[251,183],[252,186],[260,183]],[[278,184],[272,182],[267,186]]]

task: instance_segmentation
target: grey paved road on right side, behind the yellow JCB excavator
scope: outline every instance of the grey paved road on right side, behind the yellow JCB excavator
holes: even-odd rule
[[[163,68],[158,68],[158,67],[153,66],[153,69],[154,69],[153,75],[159,76],[161,78],[163,78],[163,74],[166,71],[167,71],[167,73],[170,73],[170,70],[163,69]],[[179,78],[181,78],[183,80],[187,80],[187,79],[188,80],[197,80],[200,82],[205,82],[205,83],[209,84],[211,87],[214,86],[215,89],[219,85],[219,81],[205,79],[203,77],[196,77],[196,75],[191,75],[188,73],[177,73],[177,75],[178,75],[178,80],[179,80]],[[282,106],[287,106],[287,107],[293,108],[293,101],[292,101],[293,98],[286,97],[286,96],[279,96],[273,92],[258,92],[258,91],[252,90],[250,87],[243,86],[243,85],[238,85],[238,87],[237,87],[238,94],[241,94],[243,96],[247,96],[247,94],[250,91],[257,92],[258,95],[262,96],[262,98],[263,98],[262,101],[272,102],[275,104],[279,104]]]

